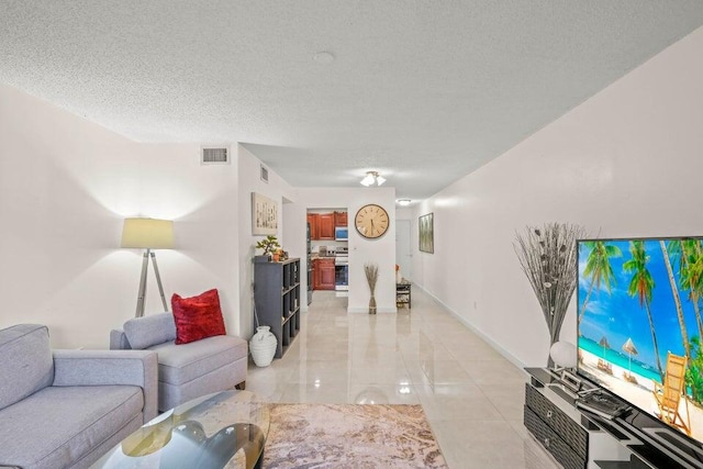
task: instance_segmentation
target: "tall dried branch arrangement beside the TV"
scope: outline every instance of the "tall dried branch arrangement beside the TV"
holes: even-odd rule
[[[513,248],[542,306],[550,346],[559,340],[563,316],[576,289],[576,241],[584,236],[582,226],[567,223],[527,226],[525,233],[515,234]],[[554,366],[551,357],[547,366]]]

